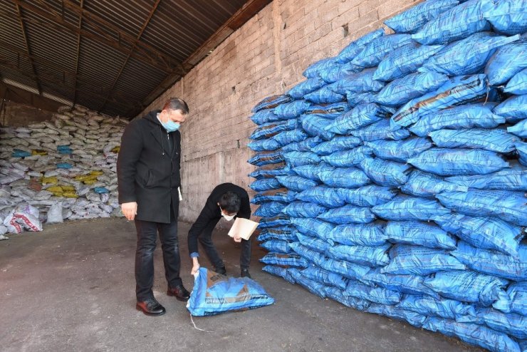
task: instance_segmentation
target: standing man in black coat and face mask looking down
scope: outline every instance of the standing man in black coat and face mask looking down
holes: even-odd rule
[[[122,134],[117,162],[119,203],[128,220],[135,220],[136,309],[151,316],[165,314],[152,292],[154,250],[159,231],[167,294],[189,299],[179,277],[177,217],[181,177],[181,134],[189,108],[184,100],[170,98],[163,110],[133,120]]]

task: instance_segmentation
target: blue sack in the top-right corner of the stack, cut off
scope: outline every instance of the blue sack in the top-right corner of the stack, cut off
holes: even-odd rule
[[[491,8],[484,11],[484,18],[488,20],[494,31],[508,34],[521,34],[527,31],[527,3],[518,0],[492,1]]]

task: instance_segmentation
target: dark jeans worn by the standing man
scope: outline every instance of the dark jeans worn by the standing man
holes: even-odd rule
[[[169,224],[135,220],[137,230],[137,250],[135,252],[135,295],[137,301],[145,301],[154,296],[154,250],[157,231],[160,233],[165,278],[169,287],[182,285],[179,277],[179,247],[177,242],[177,217],[170,212]]]

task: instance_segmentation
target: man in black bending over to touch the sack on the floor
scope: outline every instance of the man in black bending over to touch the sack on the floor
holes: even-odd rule
[[[188,244],[190,257],[192,258],[191,274],[195,274],[199,269],[198,240],[205,249],[210,262],[214,265],[215,271],[219,274],[226,274],[224,262],[219,257],[216,247],[212,243],[212,230],[216,227],[221,217],[224,217],[227,221],[231,221],[235,217],[244,219],[251,217],[251,205],[249,204],[249,195],[246,190],[232,183],[218,185],[212,190],[202,212],[189,231]],[[251,277],[249,274],[251,241],[240,237],[234,237],[234,241],[241,242],[241,276]]]

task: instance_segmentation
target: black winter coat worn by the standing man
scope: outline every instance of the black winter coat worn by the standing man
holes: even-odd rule
[[[119,203],[137,202],[138,220],[170,222],[170,203],[177,219],[181,185],[181,134],[167,133],[152,111],[133,120],[122,134],[117,161]]]

